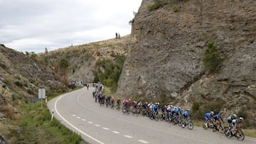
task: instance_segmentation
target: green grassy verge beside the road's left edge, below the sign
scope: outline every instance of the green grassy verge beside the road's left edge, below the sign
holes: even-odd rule
[[[50,118],[45,101],[43,107],[41,102],[22,104],[21,117],[9,121],[12,124],[3,134],[9,143],[87,143],[81,135],[70,131],[55,118],[50,121]]]

